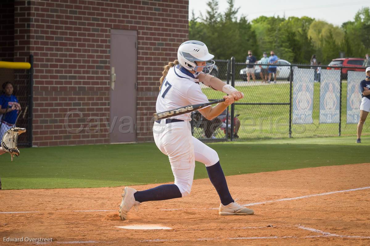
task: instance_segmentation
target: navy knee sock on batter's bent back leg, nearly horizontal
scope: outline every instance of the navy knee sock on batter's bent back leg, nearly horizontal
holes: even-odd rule
[[[181,192],[177,185],[159,185],[157,187],[146,189],[145,191],[138,191],[134,193],[135,201],[161,201],[173,198],[182,197]]]

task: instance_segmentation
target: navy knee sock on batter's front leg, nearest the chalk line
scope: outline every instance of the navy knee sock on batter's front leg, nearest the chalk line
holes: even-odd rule
[[[218,161],[215,165],[206,168],[209,180],[211,180],[211,183],[216,188],[221,203],[226,206],[231,202],[234,202],[230,195],[228,184],[226,183],[226,178],[223,174],[220,162]]]

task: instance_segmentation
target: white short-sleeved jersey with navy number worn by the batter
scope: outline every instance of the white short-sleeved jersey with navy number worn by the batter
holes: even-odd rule
[[[208,102],[207,96],[202,92],[196,75],[177,65],[169,69],[162,83],[155,109],[159,113],[178,107]],[[170,117],[170,119],[190,121],[190,114],[191,112]]]

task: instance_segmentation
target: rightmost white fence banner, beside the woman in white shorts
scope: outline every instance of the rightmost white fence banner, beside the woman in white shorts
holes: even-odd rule
[[[360,119],[360,82],[364,72],[348,71],[347,77],[347,124],[357,124]]]

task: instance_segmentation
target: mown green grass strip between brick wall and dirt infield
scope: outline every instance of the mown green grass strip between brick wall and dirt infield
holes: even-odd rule
[[[209,144],[225,175],[369,162],[370,137],[253,140]],[[0,156],[3,189],[112,187],[172,182],[168,157],[154,143],[24,148]],[[206,178],[197,163],[195,178]]]

